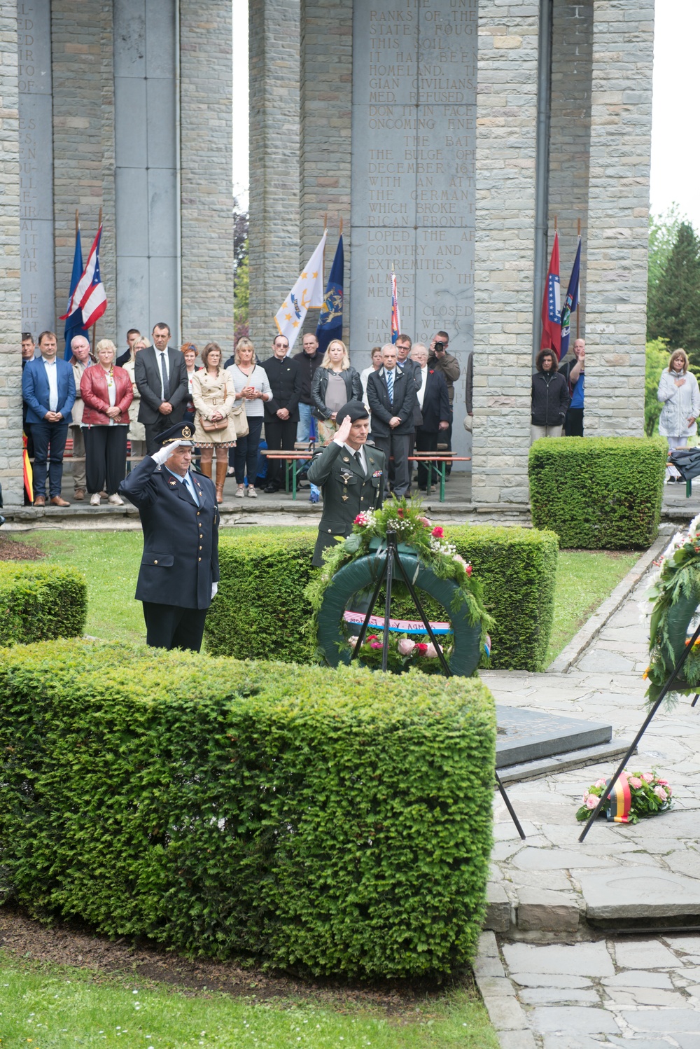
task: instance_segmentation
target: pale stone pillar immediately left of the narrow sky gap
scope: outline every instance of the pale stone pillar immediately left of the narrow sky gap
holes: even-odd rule
[[[182,338],[233,352],[232,7],[180,0]]]

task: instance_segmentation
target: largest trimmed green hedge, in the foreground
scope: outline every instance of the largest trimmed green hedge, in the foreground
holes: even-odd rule
[[[481,682],[54,641],[1,650],[0,694],[2,864],[32,914],[364,979],[474,956]]]

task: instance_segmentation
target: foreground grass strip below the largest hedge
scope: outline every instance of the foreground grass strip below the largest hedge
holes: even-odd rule
[[[264,1004],[217,992],[178,992],[67,966],[20,964],[0,951],[2,1049],[250,1046],[259,1049],[498,1049],[486,1010],[465,992],[410,1012],[308,1000]]]

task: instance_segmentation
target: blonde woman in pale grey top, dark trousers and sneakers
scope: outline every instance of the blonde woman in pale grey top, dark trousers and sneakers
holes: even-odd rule
[[[234,354],[234,363],[226,368],[236,390],[236,401],[243,404],[248,422],[248,432],[239,437],[236,445],[236,497],[245,495],[245,476],[248,478],[248,498],[256,498],[256,477],[258,475],[258,446],[265,409],[263,405],[272,398],[267,372],[256,361],[253,343],[246,337],[239,339]]]

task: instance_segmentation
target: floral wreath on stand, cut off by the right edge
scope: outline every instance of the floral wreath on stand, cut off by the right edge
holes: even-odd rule
[[[649,681],[647,697],[654,703],[683,646],[690,643],[690,624],[700,604],[700,514],[694,517],[685,532],[677,532],[661,557],[655,561],[658,573],[646,597],[654,602],[649,628],[650,664],[643,677]],[[674,683],[669,697],[700,691],[700,641],[683,664],[682,677]]]

